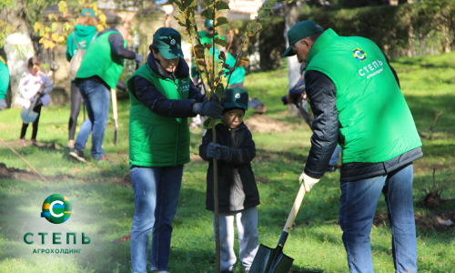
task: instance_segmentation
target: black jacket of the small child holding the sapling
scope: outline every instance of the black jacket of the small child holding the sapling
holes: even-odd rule
[[[212,129],[208,129],[199,146],[200,157],[209,162],[206,209],[211,211],[214,210],[213,159],[207,157],[207,146],[212,140]],[[219,211],[238,211],[258,206],[258,187],[251,167],[251,161],[256,157],[256,146],[248,126],[242,123],[229,130],[224,124],[218,124],[217,143],[232,150],[229,162],[217,160]]]

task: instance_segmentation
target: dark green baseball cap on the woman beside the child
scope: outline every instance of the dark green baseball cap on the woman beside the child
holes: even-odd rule
[[[153,35],[153,45],[165,59],[182,58],[182,36],[172,27],[160,27]]]

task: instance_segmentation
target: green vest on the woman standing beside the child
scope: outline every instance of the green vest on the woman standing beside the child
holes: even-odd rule
[[[167,99],[187,99],[189,75],[173,82],[158,76],[145,64],[128,78],[131,107],[129,113],[130,166],[169,167],[189,162],[189,127],[187,118],[158,116],[133,95],[134,78],[141,76],[149,81]]]

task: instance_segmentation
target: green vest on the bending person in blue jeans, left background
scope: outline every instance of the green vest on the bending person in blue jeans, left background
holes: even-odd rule
[[[118,34],[118,32],[108,31],[97,36],[87,48],[86,55],[84,55],[77,71],[76,83],[78,78],[99,76],[107,86],[116,88],[118,78],[122,74],[124,59],[111,53],[111,45],[109,44],[109,35],[111,34]]]

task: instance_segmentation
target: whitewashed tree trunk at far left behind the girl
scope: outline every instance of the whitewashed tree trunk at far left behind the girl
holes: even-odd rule
[[[5,39],[6,66],[10,73],[11,107],[19,106],[19,82],[27,69],[28,58],[34,56],[34,46],[25,23],[22,0],[15,0],[14,7],[4,6],[0,11],[0,19],[15,28]]]

